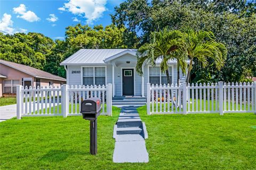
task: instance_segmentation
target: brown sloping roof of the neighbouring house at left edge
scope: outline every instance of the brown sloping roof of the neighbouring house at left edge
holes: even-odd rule
[[[8,62],[8,61],[4,61],[4,60],[0,60],[0,63],[4,64],[4,65],[7,65],[9,67],[12,67],[13,69],[19,70],[23,73],[32,75],[35,78],[66,81],[66,79],[61,78],[57,75],[54,75],[54,74],[51,74],[51,73],[48,73],[48,72],[45,72],[45,71],[42,71],[42,70],[35,69],[34,67],[30,67],[30,66],[27,66],[27,65]]]

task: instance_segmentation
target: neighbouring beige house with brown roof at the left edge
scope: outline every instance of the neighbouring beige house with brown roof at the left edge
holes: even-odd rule
[[[33,67],[0,60],[0,97],[16,93],[16,86],[60,86],[66,79]]]

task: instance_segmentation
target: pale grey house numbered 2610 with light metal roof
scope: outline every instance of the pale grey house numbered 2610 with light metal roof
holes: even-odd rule
[[[61,65],[67,71],[69,85],[113,84],[113,96],[146,96],[147,83],[166,84],[167,78],[159,69],[149,64],[143,66],[143,76],[136,72],[135,49],[80,49]],[[177,62],[169,63],[172,83],[177,83]],[[180,71],[181,82],[185,81]]]

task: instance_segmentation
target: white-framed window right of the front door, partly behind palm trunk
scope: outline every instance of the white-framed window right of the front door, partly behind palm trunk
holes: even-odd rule
[[[172,67],[169,67],[169,75],[172,83]],[[149,82],[150,84],[168,84],[166,72],[161,72],[160,67],[149,67]]]

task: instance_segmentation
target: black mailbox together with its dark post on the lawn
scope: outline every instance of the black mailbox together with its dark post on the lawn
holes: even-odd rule
[[[97,154],[97,118],[101,111],[100,98],[88,98],[81,103],[81,113],[85,120],[90,121],[90,153]]]

